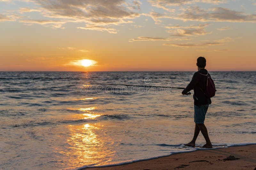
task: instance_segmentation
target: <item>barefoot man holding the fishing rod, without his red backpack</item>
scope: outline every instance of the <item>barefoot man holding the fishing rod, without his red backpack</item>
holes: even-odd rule
[[[185,144],[185,146],[191,146],[195,147],[196,144],[196,138],[201,131],[204,139],[206,141],[206,144],[203,146],[203,148],[212,148],[212,143],[210,141],[210,138],[208,136],[207,129],[204,125],[204,119],[207,112],[207,109],[209,107],[209,104],[212,103],[211,98],[207,98],[204,95],[204,91],[206,89],[206,82],[207,82],[207,74],[208,71],[204,69],[206,66],[206,60],[204,57],[198,57],[197,63],[196,63],[198,71],[194,73],[192,80],[182,91],[182,95],[188,95],[188,92],[192,89],[194,89],[194,122],[195,122],[195,132],[194,137],[188,144]],[[210,75],[210,74],[209,74]]]

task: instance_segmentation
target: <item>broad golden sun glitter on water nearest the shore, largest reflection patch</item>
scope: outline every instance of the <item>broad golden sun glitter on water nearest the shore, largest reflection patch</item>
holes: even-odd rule
[[[68,148],[61,153],[68,155],[71,166],[104,165],[111,161],[115,151],[108,145],[113,143],[110,138],[97,135],[102,131],[99,124],[68,125],[71,132],[67,139]],[[97,133],[97,134],[96,134]]]

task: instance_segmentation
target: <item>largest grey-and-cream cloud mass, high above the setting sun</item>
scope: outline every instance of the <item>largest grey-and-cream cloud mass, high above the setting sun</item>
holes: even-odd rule
[[[140,10],[141,2],[138,0],[134,0],[132,4],[125,0],[34,0],[34,2],[40,8],[21,8],[20,13],[37,11],[50,19],[42,21],[31,19],[22,22],[52,24],[53,28],[61,28],[65,23],[75,22],[85,23],[85,27],[77,27],[79,29],[117,33],[116,29],[111,28],[112,25],[132,23],[132,19],[141,15],[131,10]]]

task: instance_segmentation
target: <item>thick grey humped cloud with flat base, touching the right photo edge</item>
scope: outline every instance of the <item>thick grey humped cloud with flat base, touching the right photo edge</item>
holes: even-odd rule
[[[208,11],[197,6],[189,7],[185,12],[175,19],[183,21],[200,21],[200,22],[256,22],[255,14],[245,14],[244,12],[233,11],[227,8],[216,7]]]

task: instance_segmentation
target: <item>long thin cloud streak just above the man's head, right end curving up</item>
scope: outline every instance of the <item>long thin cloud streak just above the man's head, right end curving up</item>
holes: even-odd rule
[[[226,37],[224,39],[219,39],[219,40],[215,40],[212,42],[205,42],[205,43],[199,43],[199,44],[194,44],[194,43],[190,43],[190,44],[174,44],[174,43],[165,43],[163,44],[163,46],[175,46],[175,47],[204,47],[204,46],[219,46],[219,45],[223,45],[225,42],[229,42],[232,39],[229,37]]]

